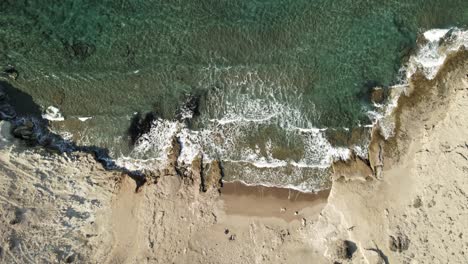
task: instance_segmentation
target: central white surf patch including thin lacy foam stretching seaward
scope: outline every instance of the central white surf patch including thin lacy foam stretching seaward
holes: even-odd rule
[[[228,69],[216,69],[220,70]],[[154,163],[166,164],[171,142],[177,137],[182,147],[179,164],[190,164],[202,155],[204,162],[216,158],[238,164],[239,170],[243,170],[238,172],[241,179],[248,182],[310,191],[319,186],[321,180],[311,175],[307,182],[301,182],[303,170],[326,170],[334,160],[349,157],[349,149],[336,148],[328,142],[324,134],[327,128],[312,126],[303,111],[305,108],[313,110],[314,106],[300,105],[302,95],[295,92],[294,87],[275,86],[254,72],[249,72],[245,78],[235,75],[226,82],[230,89],[209,96],[211,101],[206,103],[208,109],[205,109],[208,114],[201,116],[204,118],[202,130],[190,130],[184,122],[158,119],[137,141],[130,156],[118,159],[117,164],[139,170],[147,166],[154,168]],[[268,140],[268,135],[258,135],[261,141],[266,141],[256,146],[245,143],[246,138],[252,136],[250,133],[272,125],[281,130],[280,133],[302,142],[304,149],[300,160],[275,158],[273,149],[279,142]],[[153,158],[153,162],[146,162],[149,158]]]

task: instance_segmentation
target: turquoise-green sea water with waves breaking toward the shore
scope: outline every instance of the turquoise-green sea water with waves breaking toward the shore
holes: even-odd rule
[[[324,140],[365,140],[369,91],[397,81],[418,34],[467,25],[463,0],[7,0],[0,66],[15,66],[14,85],[44,109],[60,109],[54,129],[115,157],[158,156],[158,146],[135,154],[129,144],[134,113],[173,120],[199,96],[194,140],[235,161],[233,179],[297,185],[326,164]]]

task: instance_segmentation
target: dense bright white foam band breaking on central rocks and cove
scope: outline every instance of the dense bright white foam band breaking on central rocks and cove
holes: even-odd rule
[[[249,102],[246,103],[248,104]],[[287,111],[286,106],[276,105],[276,107]],[[172,139],[173,137],[177,137],[182,147],[178,159],[179,164],[190,164],[199,155],[203,155],[204,162],[209,162],[215,157],[233,164],[250,164],[253,166],[252,168],[262,169],[262,171],[261,174],[257,174],[258,171],[253,171],[244,165],[240,165],[239,168],[243,168],[245,171],[239,171],[239,174],[244,175],[246,181],[251,181],[255,184],[269,183],[278,187],[288,186],[302,191],[310,191],[315,189],[313,182],[298,183],[302,187],[292,184],[292,182],[297,183],[297,179],[303,177],[303,169],[324,170],[334,160],[346,159],[350,155],[349,149],[335,148],[327,141],[324,135],[326,129],[301,128],[295,125],[288,126],[286,122],[281,125],[284,131],[292,133],[303,140],[305,145],[304,157],[297,162],[276,159],[273,155],[273,148],[276,143],[272,140],[265,142],[263,150],[261,150],[259,145],[251,148],[248,145],[239,144],[242,138],[246,136],[246,131],[252,128],[252,125],[255,127],[263,124],[262,121],[259,121],[262,119],[257,121],[240,121],[247,119],[243,114],[245,112],[235,117],[236,122],[209,122],[211,125],[200,131],[190,130],[182,122],[156,120],[150,132],[145,134],[136,143],[131,155],[133,160],[128,157],[121,158],[117,160],[117,164],[139,170],[148,168],[147,166],[154,168],[154,162],[134,160],[145,160],[148,157],[155,157],[158,164],[166,164],[165,157],[170,150]],[[252,116],[250,114],[247,113],[247,116]],[[221,118],[221,120],[226,119]],[[274,122],[274,120],[269,121]],[[288,175],[289,179],[284,179],[285,175],[281,175],[282,179],[280,181],[275,174],[281,171],[284,172],[286,167],[290,168],[288,169],[291,172]]]

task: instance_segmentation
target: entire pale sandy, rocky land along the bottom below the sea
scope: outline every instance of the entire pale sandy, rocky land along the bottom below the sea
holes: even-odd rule
[[[286,205],[284,190],[220,195],[216,163],[173,159],[135,192],[89,155],[3,147],[0,262],[464,263],[467,74],[462,50],[433,80],[416,75],[395,137],[376,129],[368,160],[335,164],[328,198]]]

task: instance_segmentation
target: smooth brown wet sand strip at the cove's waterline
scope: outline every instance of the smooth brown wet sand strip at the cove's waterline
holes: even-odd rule
[[[330,190],[306,193],[288,188],[225,182],[221,199],[228,215],[276,217],[290,222],[300,220],[304,215],[318,215],[329,193]]]

